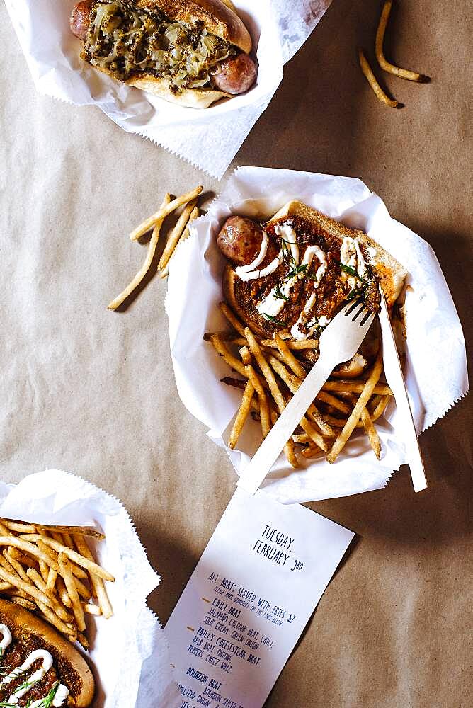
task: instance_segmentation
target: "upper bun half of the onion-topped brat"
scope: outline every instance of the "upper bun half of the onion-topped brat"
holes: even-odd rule
[[[222,0],[136,0],[144,10],[161,10],[176,22],[203,22],[210,34],[251,52],[251,36],[239,16]]]

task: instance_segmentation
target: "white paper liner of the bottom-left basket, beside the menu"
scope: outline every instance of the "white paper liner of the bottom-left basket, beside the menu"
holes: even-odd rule
[[[116,579],[107,583],[113,617],[87,617],[91,648],[86,656],[96,678],[93,706],[156,708],[175,703],[178,691],[168,644],[146,605],[160,578],[122,503],[69,472],[47,469],[26,476],[16,486],[0,482],[0,516],[101,527],[106,540],[96,544],[96,556]]]

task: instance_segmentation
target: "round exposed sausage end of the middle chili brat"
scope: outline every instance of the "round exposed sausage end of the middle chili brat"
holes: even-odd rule
[[[261,250],[263,229],[251,219],[229,217],[217,236],[217,246],[236,265],[252,263]]]

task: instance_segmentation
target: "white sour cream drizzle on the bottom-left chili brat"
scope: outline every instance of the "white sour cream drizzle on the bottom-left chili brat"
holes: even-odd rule
[[[10,646],[11,644],[11,632],[10,629],[8,629],[8,627],[6,626],[6,624],[0,624],[0,632],[2,634],[0,649],[3,656],[5,649],[7,649],[8,646]],[[8,683],[11,683],[16,678],[19,678],[20,676],[23,677],[23,675],[28,671],[28,669],[33,666],[33,663],[35,663],[35,661],[38,661],[38,659],[42,660],[42,666],[40,666],[40,668],[38,668],[38,670],[36,670],[28,679],[24,680],[23,687],[18,686],[18,688],[13,691],[11,696],[8,698],[8,703],[18,703],[19,698],[24,696],[25,693],[30,690],[30,688],[33,688],[33,686],[35,686],[42,678],[44,678],[45,674],[52,667],[52,656],[49,651],[46,651],[45,649],[35,649],[35,651],[32,651],[27,656],[21,666],[17,666],[16,668],[14,668],[8,675],[6,675],[1,680],[0,686],[6,686],[8,685]],[[52,700],[52,705],[55,707],[61,706],[68,695],[69,689],[67,688],[67,686],[64,686],[62,685],[62,683],[59,683],[56,695]],[[33,701],[30,705],[30,708],[40,708],[43,701],[44,698],[40,698],[38,700]]]

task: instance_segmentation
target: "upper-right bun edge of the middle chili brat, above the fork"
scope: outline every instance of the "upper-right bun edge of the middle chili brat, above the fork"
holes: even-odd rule
[[[287,202],[268,223],[271,224],[291,216],[301,217],[311,224],[317,224],[328,234],[338,236],[339,239],[351,236],[352,239],[358,239],[358,241],[367,246],[367,248],[373,249],[376,253],[370,258],[370,265],[375,269],[378,278],[380,278],[380,285],[388,306],[391,307],[394,302],[396,302],[399,295],[401,295],[407,271],[401,263],[399,263],[394,256],[385,251],[380,244],[370,239],[370,236],[367,236],[363,231],[349,229],[344,224],[327,217],[325,214],[317,211],[317,209],[308,207],[307,204],[303,202]]]

